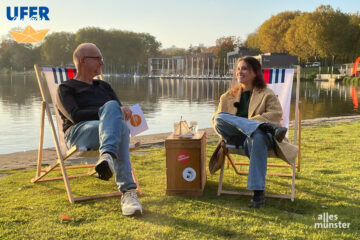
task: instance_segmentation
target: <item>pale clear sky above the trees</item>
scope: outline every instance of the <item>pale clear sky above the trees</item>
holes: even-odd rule
[[[223,36],[243,40],[272,15],[283,11],[312,12],[321,4],[345,13],[360,11],[359,0],[1,0],[0,37],[13,28],[73,32],[84,27],[146,32],[162,43],[188,48],[215,45]],[[45,6],[49,21],[9,21],[7,7]]]

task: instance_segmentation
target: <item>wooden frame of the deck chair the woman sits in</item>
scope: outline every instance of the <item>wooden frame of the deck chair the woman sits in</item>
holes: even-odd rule
[[[290,168],[291,173],[278,173],[278,172],[271,172],[267,173],[267,175],[273,176],[280,176],[280,177],[291,177],[291,186],[290,186],[290,194],[269,194],[265,193],[265,197],[272,197],[272,198],[285,198],[290,199],[292,202],[295,198],[295,170],[297,169],[300,172],[300,161],[301,161],[301,102],[299,101],[300,96],[300,66],[297,67],[296,71],[297,79],[296,79],[296,102],[295,102],[295,123],[294,123],[294,141],[293,144],[299,147],[299,152],[297,156],[297,163],[293,165],[290,164],[275,164],[275,163],[268,163],[267,166],[269,167],[276,167],[276,168]],[[225,141],[221,142],[221,147],[224,151],[224,154],[227,159],[227,167],[229,165],[235,170],[235,173],[238,175],[247,175],[247,171],[239,171],[237,165],[249,165],[249,162],[235,162],[230,156],[230,153],[238,154],[238,155],[245,155],[243,149],[236,149],[233,145],[227,145]],[[274,151],[269,151],[269,157],[276,157]],[[224,179],[224,165],[225,161],[221,165],[220,176],[219,176],[219,184],[218,184],[218,191],[217,195],[220,196],[221,194],[234,194],[234,195],[247,195],[252,196],[252,192],[250,191],[229,191],[223,189],[223,179]]]

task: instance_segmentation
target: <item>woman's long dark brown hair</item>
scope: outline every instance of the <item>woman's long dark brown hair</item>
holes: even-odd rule
[[[246,62],[247,65],[251,68],[251,70],[255,73],[255,79],[254,79],[254,82],[253,82],[253,86],[256,87],[256,88],[260,88],[260,89],[266,88],[266,82],[265,82],[265,80],[263,78],[263,75],[262,75],[260,62],[254,57],[245,56],[245,57],[239,58],[236,61],[236,63],[234,64],[234,72],[233,72],[233,79],[232,79],[232,82],[231,82],[230,92],[235,93],[240,88],[238,80],[236,78],[236,68],[237,68],[237,65],[241,61]]]

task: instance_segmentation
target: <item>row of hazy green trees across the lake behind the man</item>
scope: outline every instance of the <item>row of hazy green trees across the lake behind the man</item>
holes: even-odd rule
[[[46,36],[41,45],[18,44],[13,40],[0,43],[0,69],[32,68],[34,63],[66,66],[72,63],[77,45],[84,42],[96,44],[105,59],[105,68],[113,71],[146,71],[147,60],[160,54],[161,43],[148,33],[135,33],[95,27],[79,29],[76,34],[56,32]]]

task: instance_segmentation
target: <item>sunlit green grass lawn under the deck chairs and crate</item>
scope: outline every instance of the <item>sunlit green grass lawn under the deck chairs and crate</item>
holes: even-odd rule
[[[70,204],[63,181],[32,184],[35,170],[2,171],[0,239],[360,239],[360,122],[303,128],[302,168],[295,202],[267,199],[249,209],[247,196],[216,196],[219,172],[202,197],[166,196],[165,151],[144,149],[132,159],[143,195],[142,217],[123,217],[119,198]],[[215,145],[207,145],[209,159]],[[286,169],[284,169],[286,170]],[[246,176],[225,171],[227,189]],[[114,180],[70,180],[76,196],[116,191]],[[290,179],[267,177],[267,191],[290,190]],[[349,228],[319,229],[318,215],[337,215]],[[73,221],[62,222],[60,215]]]

